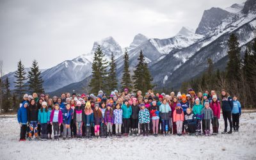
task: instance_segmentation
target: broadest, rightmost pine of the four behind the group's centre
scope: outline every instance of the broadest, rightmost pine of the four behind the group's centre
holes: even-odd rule
[[[140,56],[137,60],[139,62],[138,65],[136,65],[136,70],[134,70],[134,75],[132,76],[134,79],[134,88],[136,91],[141,90],[142,93],[145,93],[148,89],[152,89],[153,85],[151,84],[151,81],[153,81],[153,79],[148,70],[148,65],[145,62],[145,57],[142,51],[140,51]]]

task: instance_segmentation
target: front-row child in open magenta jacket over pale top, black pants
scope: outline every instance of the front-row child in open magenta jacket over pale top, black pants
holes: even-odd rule
[[[59,140],[60,125],[63,122],[62,112],[60,110],[59,104],[54,104],[54,109],[50,115],[50,122],[51,125],[53,125],[54,140]]]

